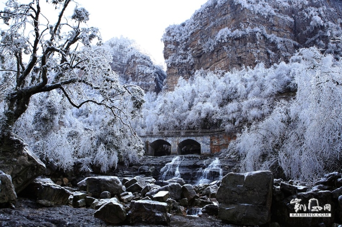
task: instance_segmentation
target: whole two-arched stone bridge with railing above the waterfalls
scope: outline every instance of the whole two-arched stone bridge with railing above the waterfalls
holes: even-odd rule
[[[236,132],[246,124],[215,130],[138,132],[145,142],[146,155],[211,154],[228,148]]]

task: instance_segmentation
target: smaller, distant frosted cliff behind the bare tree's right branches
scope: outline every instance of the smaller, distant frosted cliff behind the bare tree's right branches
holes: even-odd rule
[[[107,45],[113,56],[112,70],[125,83],[138,85],[145,92],[159,93],[162,90],[165,71],[141,53],[132,40],[112,38]]]

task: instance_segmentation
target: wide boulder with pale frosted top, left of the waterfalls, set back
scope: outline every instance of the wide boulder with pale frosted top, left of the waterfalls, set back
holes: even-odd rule
[[[120,195],[123,192],[121,181],[116,176],[87,177],[80,181],[77,186],[86,188],[86,191],[96,198],[99,198],[103,191],[109,191],[111,197]]]

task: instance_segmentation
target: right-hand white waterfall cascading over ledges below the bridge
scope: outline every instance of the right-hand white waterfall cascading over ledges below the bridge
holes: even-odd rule
[[[201,170],[201,176],[197,184],[209,184],[214,180],[222,180],[222,174],[221,162],[218,158],[215,158],[207,168]]]

